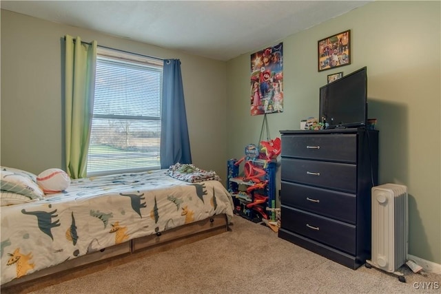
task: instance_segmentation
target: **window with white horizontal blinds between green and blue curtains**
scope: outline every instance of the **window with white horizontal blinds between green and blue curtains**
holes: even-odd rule
[[[97,53],[88,176],[160,168],[162,62]]]

